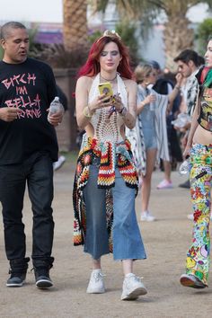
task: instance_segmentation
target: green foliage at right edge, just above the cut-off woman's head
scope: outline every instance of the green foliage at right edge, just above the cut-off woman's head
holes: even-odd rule
[[[207,48],[207,44],[208,44],[208,38],[211,35],[212,35],[212,19],[208,18],[199,24],[199,28],[197,31],[199,54],[204,55]]]

